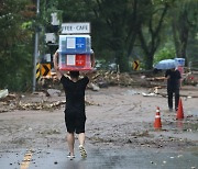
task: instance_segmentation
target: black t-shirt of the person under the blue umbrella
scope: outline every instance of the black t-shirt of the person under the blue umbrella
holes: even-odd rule
[[[165,77],[168,76],[167,88],[173,90],[179,89],[180,72],[178,70],[166,70]]]

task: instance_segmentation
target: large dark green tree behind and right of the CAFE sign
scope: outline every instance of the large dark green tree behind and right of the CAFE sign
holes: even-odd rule
[[[59,1],[64,22],[91,22],[94,46],[98,55],[111,54],[121,71],[129,70],[138,30],[142,22],[143,0]]]

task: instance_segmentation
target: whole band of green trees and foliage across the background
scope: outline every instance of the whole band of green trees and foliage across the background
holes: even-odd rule
[[[97,59],[117,63],[121,71],[141,60],[146,69],[174,56],[198,61],[197,0],[1,0],[0,89],[26,90],[32,80],[33,35],[40,30],[40,53],[45,32],[53,32],[51,13],[63,22],[90,22]],[[56,27],[56,33],[57,27]],[[168,45],[167,45],[168,44]],[[197,66],[197,65],[196,65]]]

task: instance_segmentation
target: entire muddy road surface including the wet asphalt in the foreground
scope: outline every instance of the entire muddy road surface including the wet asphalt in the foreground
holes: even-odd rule
[[[176,120],[176,112],[168,111],[167,98],[162,97],[166,94],[165,89],[158,89],[158,93],[162,94],[145,97],[147,93],[151,93],[151,90],[132,87],[111,87],[98,92],[86,91],[88,102],[86,147],[91,157],[84,161],[82,168],[102,168],[101,160],[105,160],[107,154],[111,162],[106,162],[103,168],[110,168],[112,161],[118,159],[119,162],[114,168],[178,167],[174,166],[174,161],[168,166],[167,159],[163,159],[165,156],[168,159],[180,160],[179,168],[198,167],[198,98],[194,98],[198,95],[197,87],[184,87],[182,90],[182,94],[188,95],[182,97],[185,115],[183,121]],[[52,104],[64,100],[64,93],[54,97],[24,94],[20,102],[21,104],[33,102]],[[155,131],[153,127],[157,106],[161,111],[162,131]],[[1,103],[2,109],[8,108]],[[52,161],[53,166],[57,167],[61,162],[56,164],[59,158],[55,155],[63,158],[67,154],[63,112],[64,104],[53,109],[2,111],[0,113],[1,168],[19,168],[26,150],[33,154],[31,162],[35,168],[48,168],[45,166],[48,162],[41,165],[44,160],[43,154],[47,155],[48,159],[56,157]],[[118,154],[121,155],[119,158]],[[18,155],[18,158],[14,155]],[[122,159],[122,156],[125,159]],[[183,156],[186,159],[179,158]],[[156,165],[157,157],[161,159],[160,166]],[[142,162],[145,158],[147,158],[146,162]],[[124,166],[124,161],[128,165]],[[70,164],[70,167],[68,165],[67,162],[67,168],[80,168],[77,167],[78,164]]]

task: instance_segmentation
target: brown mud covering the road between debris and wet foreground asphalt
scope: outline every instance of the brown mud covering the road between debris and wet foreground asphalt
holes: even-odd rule
[[[176,120],[176,112],[167,109],[165,89],[154,95],[147,88],[109,87],[86,91],[86,144],[96,147],[130,147],[141,149],[193,149],[198,154],[198,88],[184,87],[180,91],[185,119]],[[195,98],[194,98],[195,97]],[[20,105],[57,103],[65,95],[24,94]],[[1,102],[1,110],[8,109]],[[155,131],[156,108],[161,110],[162,131]],[[1,111],[0,149],[66,148],[64,104],[40,110]]]

